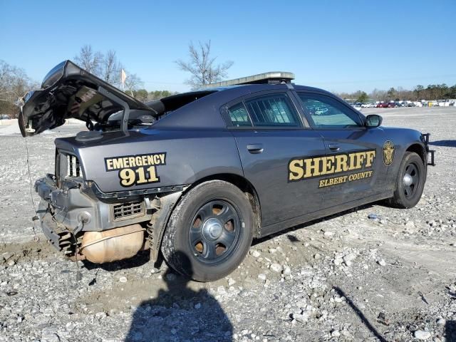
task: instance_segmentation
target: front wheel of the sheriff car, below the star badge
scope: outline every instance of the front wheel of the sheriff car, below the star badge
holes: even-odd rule
[[[406,175],[411,177],[410,185],[410,177],[407,176],[407,179]],[[389,204],[402,209],[415,207],[423,194],[425,180],[426,168],[423,160],[415,152],[405,152],[400,162],[394,195],[389,199]]]

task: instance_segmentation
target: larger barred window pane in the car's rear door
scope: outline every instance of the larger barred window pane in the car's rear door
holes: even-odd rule
[[[300,126],[298,114],[285,94],[252,98],[245,105],[254,126]]]

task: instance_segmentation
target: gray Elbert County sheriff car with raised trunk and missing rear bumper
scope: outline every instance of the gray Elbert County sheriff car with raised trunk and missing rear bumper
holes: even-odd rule
[[[55,173],[36,181],[48,241],[94,263],[150,249],[152,261],[161,252],[180,274],[212,281],[254,238],[380,199],[415,206],[434,163],[429,135],[385,128],[293,78],[265,73],[141,103],[59,64],[19,116],[24,137],[67,118],[88,128],[55,140]]]

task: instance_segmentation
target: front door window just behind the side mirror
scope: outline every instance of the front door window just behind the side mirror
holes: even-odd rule
[[[308,93],[298,95],[316,128],[353,128],[363,125],[359,115],[333,98]]]

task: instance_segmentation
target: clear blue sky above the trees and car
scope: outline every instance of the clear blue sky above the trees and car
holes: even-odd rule
[[[174,61],[212,41],[229,78],[291,71],[331,91],[456,84],[456,1],[6,1],[0,59],[41,81],[84,44],[147,90],[185,91]]]

